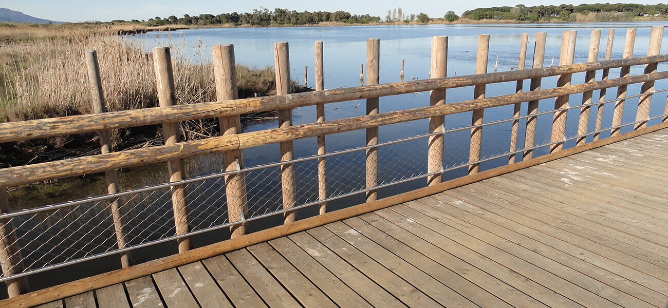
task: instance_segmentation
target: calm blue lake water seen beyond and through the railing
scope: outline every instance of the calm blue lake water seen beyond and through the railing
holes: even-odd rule
[[[589,49],[589,39],[592,29],[602,29],[601,37],[601,53],[599,59],[605,57],[605,42],[607,39],[608,29],[616,29],[615,45],[613,47],[613,59],[620,58],[623,51],[623,45],[626,35],[627,27],[637,27],[637,39],[635,43],[634,55],[646,55],[647,43],[649,40],[650,27],[654,25],[668,25],[668,22],[652,22],[652,23],[578,23],[578,24],[562,24],[562,23],[545,23],[545,24],[522,24],[522,25],[402,25],[402,26],[359,26],[359,27],[285,27],[285,28],[234,28],[234,29],[191,29],[184,31],[176,31],[172,33],[150,33],[149,35],[128,36],[128,41],[135,41],[142,43],[147,51],[154,46],[168,45],[168,35],[174,40],[174,44],[183,46],[186,53],[193,59],[202,59],[201,61],[210,61],[210,48],[212,45],[220,43],[234,44],[235,57],[237,63],[246,65],[255,65],[257,67],[265,67],[267,65],[273,66],[273,43],[276,41],[288,41],[290,51],[290,64],[292,78],[303,81],[304,66],[309,66],[309,85],[315,84],[314,74],[314,41],[321,40],[324,42],[324,70],[325,70],[325,89],[333,89],[337,87],[353,87],[359,85],[359,67],[366,63],[366,42],[367,38],[377,37],[380,42],[380,81],[381,83],[389,83],[399,81],[399,71],[401,71],[401,60],[405,60],[405,80],[411,79],[426,79],[429,77],[430,71],[430,45],[431,37],[434,35],[448,35],[449,49],[448,49],[448,76],[453,75],[468,75],[474,73],[476,61],[476,46],[478,42],[478,34],[490,34],[490,59],[488,71],[494,71],[496,57],[498,55],[498,71],[508,71],[510,67],[516,68],[518,65],[518,55],[520,47],[520,37],[522,33],[529,33],[529,44],[527,52],[526,67],[530,68],[532,63],[532,54],[534,46],[534,37],[537,31],[547,32],[545,65],[550,66],[552,61],[554,65],[559,62],[559,49],[561,45],[562,31],[567,29],[576,29],[578,37],[576,41],[576,57],[575,62],[585,62],[587,60],[587,51]],[[668,43],[665,43],[662,53],[668,51]],[[554,60],[552,60],[554,59]],[[666,65],[660,65],[659,71],[666,69]],[[632,75],[642,73],[642,67],[634,67],[631,71]],[[619,69],[613,69],[610,73],[611,78],[619,76]],[[600,73],[597,75],[597,80],[600,80]],[[581,83],[584,79],[584,74],[575,74],[573,76],[573,83]],[[543,79],[543,87],[554,87],[556,84],[556,77]],[[178,87],[178,85],[176,85]],[[668,87],[664,81],[657,82],[657,89],[664,89]],[[528,89],[528,82],[525,82],[524,88]],[[495,85],[488,85],[486,94],[488,96],[503,95],[514,93],[515,83],[499,83]],[[639,91],[639,86],[629,87],[629,95],[636,94]],[[614,90],[609,91],[614,93]],[[447,101],[463,101],[472,99],[473,89],[450,89],[448,90]],[[595,93],[598,97],[598,93]],[[572,103],[580,103],[581,95],[572,95],[570,98]],[[571,104],[572,104],[571,103]],[[392,111],[399,109],[408,109],[414,107],[423,107],[429,104],[428,93],[415,93],[409,95],[397,95],[394,97],[381,97],[380,111]],[[554,99],[546,99],[541,101],[540,110],[548,110],[554,107]],[[578,111],[577,111],[578,112]],[[327,120],[342,119],[347,117],[355,117],[364,115],[365,101],[348,101],[343,103],[331,103],[325,106],[325,114]],[[526,103],[523,106],[522,114],[526,114]],[[506,119],[512,115],[512,107],[496,107],[488,109],[485,113],[485,121],[494,121],[498,119]],[[633,115],[630,115],[633,116]],[[305,107],[295,109],[293,111],[295,125],[302,123],[315,122],[315,107]],[[576,117],[569,115],[568,131],[572,135],[576,130],[576,125],[573,125],[573,120]],[[451,115],[446,117],[446,127],[461,127],[469,125],[471,121],[470,113],[462,113],[458,115]],[[542,124],[541,124],[542,123]],[[551,125],[551,115],[539,119],[539,127],[544,131],[542,135],[538,136],[537,142],[549,139],[546,135],[546,129]],[[261,129],[268,129],[277,127],[276,121],[263,121],[261,123],[246,123],[244,124],[244,131],[257,131]],[[520,128],[523,129],[523,128]],[[409,123],[399,123],[395,125],[387,125],[380,127],[379,138],[380,141],[388,141],[399,139],[401,137],[409,137],[413,135],[420,135],[427,133],[428,121],[412,121]],[[520,130],[520,136],[523,131]],[[483,130],[483,156],[490,156],[497,153],[504,153],[508,151],[510,137],[510,124],[495,125]],[[605,137],[605,136],[603,136]],[[459,133],[452,133],[446,137],[446,164],[454,165],[468,160],[468,138],[469,132],[462,131]],[[364,131],[352,131],[348,133],[339,133],[327,136],[327,151],[336,151],[341,149],[348,149],[365,144]],[[523,144],[520,139],[520,144]],[[314,155],[316,153],[317,143],[315,138],[301,139],[295,141],[295,157],[304,157]],[[538,155],[546,153],[546,149],[537,151]],[[406,173],[421,172],[426,169],[426,140],[411,141],[408,143],[401,143],[391,147],[383,147],[380,149],[381,153],[381,181],[383,176],[387,179],[394,179],[400,177],[396,170],[405,171]],[[407,161],[405,160],[408,157]],[[246,166],[258,165],[261,163],[268,163],[271,161],[279,161],[279,147],[278,145],[267,145],[263,147],[255,147],[252,149],[244,149],[244,162]],[[498,165],[507,163],[507,159],[496,159],[482,164],[482,169],[490,169]],[[305,164],[299,169],[297,177],[300,172],[303,175],[311,174],[315,169],[315,164]],[[164,164],[155,166],[154,168],[143,168],[141,171],[123,171],[120,173],[120,182],[122,189],[131,189],[143,185],[154,183],[162,183],[166,181],[166,168]],[[331,159],[328,160],[328,169],[330,170],[330,179],[337,176],[337,169],[355,169],[363,170],[363,153],[361,155],[351,155],[345,159]],[[301,171],[300,171],[301,170]],[[190,159],[188,161],[188,176],[204,175],[208,173],[220,171],[220,157],[210,155],[208,157],[200,157],[197,159]],[[454,178],[464,175],[465,169],[450,172],[446,178]],[[353,185],[359,186],[363,183],[363,174],[361,176],[344,175],[338,173],[339,177],[344,177],[345,181],[355,182]],[[347,178],[345,178],[347,177]],[[258,177],[261,179],[261,177]],[[312,176],[310,179],[303,180],[300,184],[299,203],[313,201],[312,191],[315,182]],[[280,179],[265,178],[264,181],[250,181],[248,183],[249,191],[261,190],[272,185],[279,185]],[[357,183],[359,182],[359,183]],[[380,191],[379,197],[387,197],[391,194],[401,193],[425,185],[425,180],[412,181],[389,189]],[[67,181],[60,181],[58,185],[62,185],[63,189],[73,191],[73,195],[67,196],[67,199],[58,198],[49,199],[45,197],[35,204],[32,199],[13,199],[12,194],[9,194],[11,203],[21,207],[38,206],[48,203],[58,203],[67,201],[69,199],[77,199],[80,197],[87,197],[92,194],[106,193],[104,191],[104,178],[94,180],[93,183],[86,183],[86,187],[77,187],[82,185],[81,182],[68,183]],[[69,185],[69,186],[68,186]],[[363,184],[361,184],[363,185]],[[280,188],[279,189],[280,195]],[[212,186],[214,189],[222,189]],[[224,189],[222,189],[224,191]],[[202,193],[203,194],[203,193]],[[196,194],[194,194],[196,195]],[[222,197],[222,196],[220,196]],[[250,200],[253,202],[253,200]],[[280,200],[277,200],[280,201]],[[329,209],[339,209],[349,205],[363,202],[363,194],[347,199],[341,199],[336,202],[329,203]],[[43,204],[41,204],[43,203]],[[277,203],[280,206],[280,203]],[[306,209],[299,214],[302,217],[313,215],[317,213],[317,209]],[[257,221],[251,225],[251,229],[263,229],[270,225],[280,223],[281,219],[269,219],[265,221]],[[220,231],[214,235],[205,235],[196,238],[196,245],[206,245],[218,241],[221,237],[225,237],[225,231]],[[175,253],[175,245],[167,243],[168,245],[160,245],[152,249],[140,249],[133,252],[134,262],[143,262],[148,259],[153,259],[162,255]],[[65,269],[49,271],[41,275],[33,275],[29,279],[31,286],[34,289],[46,287],[48,285],[55,285],[63,281],[77,279],[79,277],[86,277],[96,273],[102,273],[120,267],[117,257],[109,257],[102,259],[102,261],[94,261],[76,265]],[[3,290],[4,291],[4,290]]]

